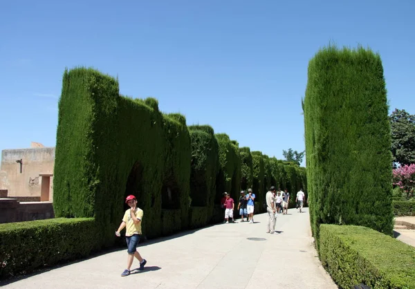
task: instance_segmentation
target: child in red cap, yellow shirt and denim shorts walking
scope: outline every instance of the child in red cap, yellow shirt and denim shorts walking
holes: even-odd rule
[[[142,209],[137,207],[137,200],[136,197],[133,195],[127,196],[125,203],[129,205],[129,209],[125,211],[124,217],[122,218],[122,222],[118,230],[116,231],[116,236],[121,236],[120,232],[124,227],[126,227],[125,232],[125,240],[127,241],[127,269],[122,272],[121,276],[125,277],[130,274],[131,265],[133,264],[133,259],[136,257],[138,261],[140,261],[140,270],[144,269],[145,264],[147,261],[141,258],[140,253],[137,251],[138,242],[140,241],[141,232],[141,221]]]

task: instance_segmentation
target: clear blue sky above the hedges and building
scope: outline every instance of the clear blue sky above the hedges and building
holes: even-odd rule
[[[282,159],[304,150],[308,61],[329,41],[380,53],[390,111],[415,114],[414,11],[409,0],[3,1],[0,150],[55,146],[64,68],[92,66],[124,95]]]

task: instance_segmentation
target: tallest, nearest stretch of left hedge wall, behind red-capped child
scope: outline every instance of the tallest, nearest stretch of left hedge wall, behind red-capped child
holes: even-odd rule
[[[111,245],[127,209],[124,198],[133,194],[145,212],[147,237],[162,234],[162,208],[181,209],[182,223],[174,227],[187,227],[191,151],[185,118],[163,115],[154,99],[122,97],[116,80],[92,69],[65,71],[62,86],[55,215],[95,217],[100,241]]]

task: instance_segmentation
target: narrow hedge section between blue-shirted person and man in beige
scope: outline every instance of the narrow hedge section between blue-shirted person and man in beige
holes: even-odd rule
[[[264,186],[264,159],[262,158],[261,151],[252,151],[252,191],[254,192],[256,198],[255,203],[258,205],[255,206],[255,213],[264,212],[265,207],[265,194],[267,192],[266,187]]]

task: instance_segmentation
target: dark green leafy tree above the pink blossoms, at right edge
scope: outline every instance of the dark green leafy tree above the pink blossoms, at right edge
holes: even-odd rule
[[[390,115],[394,167],[415,163],[415,115],[395,109]]]

